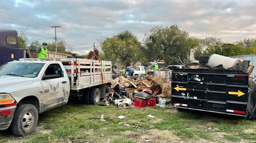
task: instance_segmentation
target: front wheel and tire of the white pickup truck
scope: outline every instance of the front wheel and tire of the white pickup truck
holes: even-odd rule
[[[11,131],[15,136],[25,136],[34,131],[38,121],[38,111],[34,105],[17,106],[12,119]]]

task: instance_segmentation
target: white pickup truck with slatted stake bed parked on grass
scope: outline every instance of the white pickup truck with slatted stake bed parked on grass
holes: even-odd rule
[[[112,79],[111,61],[19,59],[0,66],[0,130],[34,131],[38,115],[70,98],[98,104]]]

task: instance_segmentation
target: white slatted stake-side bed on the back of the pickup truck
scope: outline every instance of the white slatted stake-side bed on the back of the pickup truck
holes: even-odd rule
[[[106,84],[112,80],[111,61],[75,58],[63,58],[60,61],[70,78],[71,90]]]

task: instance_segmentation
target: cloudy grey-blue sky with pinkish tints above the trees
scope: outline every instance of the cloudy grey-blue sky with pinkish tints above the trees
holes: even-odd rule
[[[256,38],[255,0],[1,0],[0,28],[25,32],[29,40],[66,42],[85,53],[93,43],[125,30],[139,41],[153,27],[178,25],[190,37],[234,43]]]

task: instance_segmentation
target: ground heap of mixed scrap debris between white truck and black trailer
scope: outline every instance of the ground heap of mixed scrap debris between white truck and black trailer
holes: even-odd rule
[[[170,101],[170,88],[171,83],[164,82],[162,76],[147,76],[140,79],[118,76],[116,79],[113,79],[111,85],[107,87],[104,101],[106,105],[117,105],[117,102],[128,98],[129,101],[133,103],[136,98],[136,96],[134,96],[136,93],[137,95],[142,95],[144,99],[154,97],[165,98],[167,101]],[[126,102],[129,103],[128,100]]]

